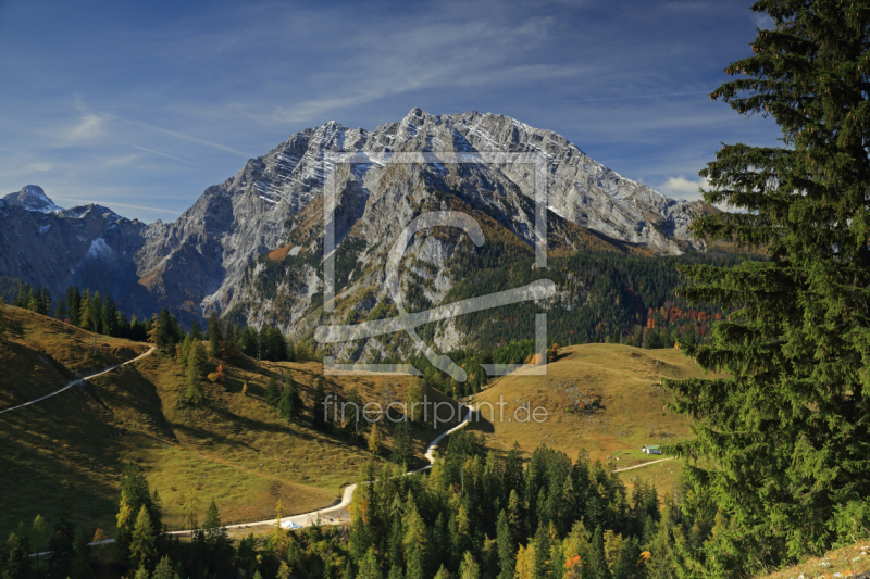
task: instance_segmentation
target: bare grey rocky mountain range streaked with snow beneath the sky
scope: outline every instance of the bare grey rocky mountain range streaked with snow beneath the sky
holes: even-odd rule
[[[373,131],[330,122],[298,133],[248,161],[235,177],[208,188],[171,224],[146,226],[98,205],[61,210],[41,189],[27,186],[0,203],[0,275],[41,284],[52,292],[70,282],[104,288],[128,314],[150,315],[149,309],[166,305],[186,322],[211,311],[234,311],[258,323],[270,318],[275,300],[290,295],[302,305],[307,302],[300,309],[308,310],[314,294],[322,292],[322,253],[316,252],[322,252],[318,240],[323,159],[339,151],[542,153],[547,158],[548,204],[556,221],[550,236],[558,238],[552,242],[575,249],[584,243],[577,237],[582,230],[657,254],[701,249],[691,239],[688,225],[698,214],[712,211],[622,177],[552,131],[488,113],[432,115],[413,109],[400,122]],[[347,251],[347,243],[356,243],[365,263],[383,260],[421,207],[449,204],[433,194],[447,191],[531,247],[531,175],[527,165],[339,167],[336,242]],[[425,236],[417,237],[418,246],[409,252],[421,264],[430,264],[419,266],[426,270],[439,269],[437,264],[446,263],[455,249],[449,243],[426,244]],[[285,279],[283,289],[261,294],[257,278],[268,268],[261,256],[282,248],[283,264],[298,262],[294,278],[299,282],[294,286]],[[383,262],[380,266],[383,274]],[[352,275],[377,275],[366,266],[351,269]],[[452,282],[446,272],[433,276],[424,293],[436,303]],[[300,312],[296,320],[285,319],[281,326],[297,331],[301,322]]]

